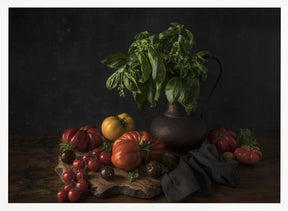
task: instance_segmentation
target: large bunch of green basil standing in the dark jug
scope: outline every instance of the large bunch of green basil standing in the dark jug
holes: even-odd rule
[[[208,51],[193,53],[194,47],[193,34],[178,23],[159,34],[141,32],[128,56],[117,53],[102,61],[115,69],[106,87],[117,87],[123,97],[125,89],[132,92],[141,111],[148,104],[155,107],[165,95],[169,103],[179,102],[190,115],[196,110],[199,82],[207,78],[206,58],[211,56]]]

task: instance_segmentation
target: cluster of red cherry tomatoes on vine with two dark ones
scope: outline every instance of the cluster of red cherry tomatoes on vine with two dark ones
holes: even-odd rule
[[[61,202],[67,200],[76,202],[82,194],[89,192],[88,170],[100,172],[102,178],[106,180],[112,180],[114,176],[114,169],[110,167],[111,153],[102,152],[100,148],[95,148],[72,160],[74,156],[71,152],[73,151],[65,150],[61,154],[63,162],[72,163],[72,169],[62,175],[65,186],[63,190],[57,193],[57,198]]]

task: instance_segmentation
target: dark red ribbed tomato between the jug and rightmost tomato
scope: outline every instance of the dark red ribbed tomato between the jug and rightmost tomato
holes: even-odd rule
[[[236,134],[232,130],[226,130],[224,127],[211,130],[208,134],[208,139],[222,153],[234,152],[237,146]]]

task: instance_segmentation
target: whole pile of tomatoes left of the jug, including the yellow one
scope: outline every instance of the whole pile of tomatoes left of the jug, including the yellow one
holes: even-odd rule
[[[101,132],[93,125],[69,128],[62,135],[61,160],[72,165],[70,171],[63,173],[65,186],[57,197],[60,201],[76,202],[81,194],[89,191],[87,170],[100,172],[105,180],[112,180],[114,169],[135,171],[141,163],[147,163],[147,174],[158,178],[161,175],[160,161],[165,145],[146,131],[134,131],[135,122],[127,113],[104,119]],[[77,157],[74,152],[81,153]],[[131,178],[132,178],[131,176]],[[129,174],[128,174],[129,177]],[[130,177],[129,177],[130,178]],[[131,179],[134,180],[134,179]]]

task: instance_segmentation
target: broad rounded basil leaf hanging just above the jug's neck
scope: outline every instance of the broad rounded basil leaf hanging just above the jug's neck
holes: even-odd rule
[[[173,77],[169,80],[165,87],[165,94],[170,104],[174,104],[182,90],[182,79],[180,77]]]

